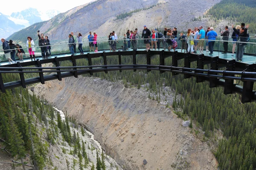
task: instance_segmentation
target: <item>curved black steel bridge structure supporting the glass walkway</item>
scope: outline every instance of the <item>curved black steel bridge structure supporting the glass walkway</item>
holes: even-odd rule
[[[146,64],[137,64],[136,58],[138,54],[145,55]],[[151,57],[159,56],[159,65],[151,65]],[[111,65],[107,63],[108,56],[118,57],[119,64]],[[122,63],[122,56],[131,56],[133,64]],[[103,65],[93,65],[92,59],[103,57]],[[165,65],[165,59],[172,57],[172,65]],[[77,59],[87,59],[87,66],[78,66]],[[178,61],[184,59],[184,65],[178,66]],[[60,62],[70,61],[73,66],[62,67]],[[191,62],[197,62],[196,68],[191,68]],[[42,67],[43,64],[53,63],[55,67]],[[209,69],[204,69],[204,65],[208,65]],[[222,68],[222,70],[219,70]],[[223,70],[224,69],[224,70]],[[67,57],[52,57],[49,59],[37,59],[36,61],[17,62],[11,65],[0,66],[0,89],[5,92],[8,88],[15,88],[45,81],[58,79],[62,80],[65,77],[78,77],[81,74],[90,74],[96,72],[120,71],[122,70],[147,70],[172,72],[172,75],[183,74],[184,78],[195,77],[196,82],[209,82],[209,87],[217,86],[224,87],[224,94],[239,93],[241,94],[241,102],[252,102],[256,100],[256,92],[253,91],[253,83],[256,81],[256,64],[246,64],[236,62],[235,59],[227,60],[219,57],[208,57],[204,54],[196,55],[190,53],[179,53],[177,51],[116,51],[99,53],[87,53],[83,55],[67,56]],[[16,73],[19,74],[20,80],[14,82],[3,82],[3,74]],[[24,74],[37,73],[38,77],[25,79]],[[44,73],[54,73],[44,75]],[[234,83],[235,80],[241,80],[243,86]]]

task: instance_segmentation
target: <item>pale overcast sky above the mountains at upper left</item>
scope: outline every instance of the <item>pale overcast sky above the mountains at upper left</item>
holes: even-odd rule
[[[76,6],[84,5],[92,0],[1,0],[0,12],[5,15],[11,15],[12,12],[20,12],[27,8],[37,8],[38,11],[56,9],[60,12],[66,12]]]

